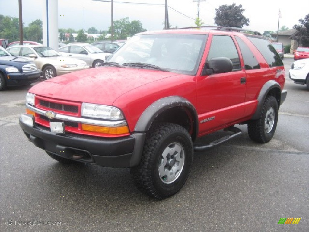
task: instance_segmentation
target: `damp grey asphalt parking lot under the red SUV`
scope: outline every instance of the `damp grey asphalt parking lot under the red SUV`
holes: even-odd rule
[[[241,136],[195,153],[166,200],[139,192],[129,169],[57,163],[17,123],[29,87],[0,92],[0,231],[309,231],[309,91],[288,79],[293,58],[283,61],[288,95],[273,140],[256,144],[237,126]],[[301,219],[278,224],[292,217]]]

